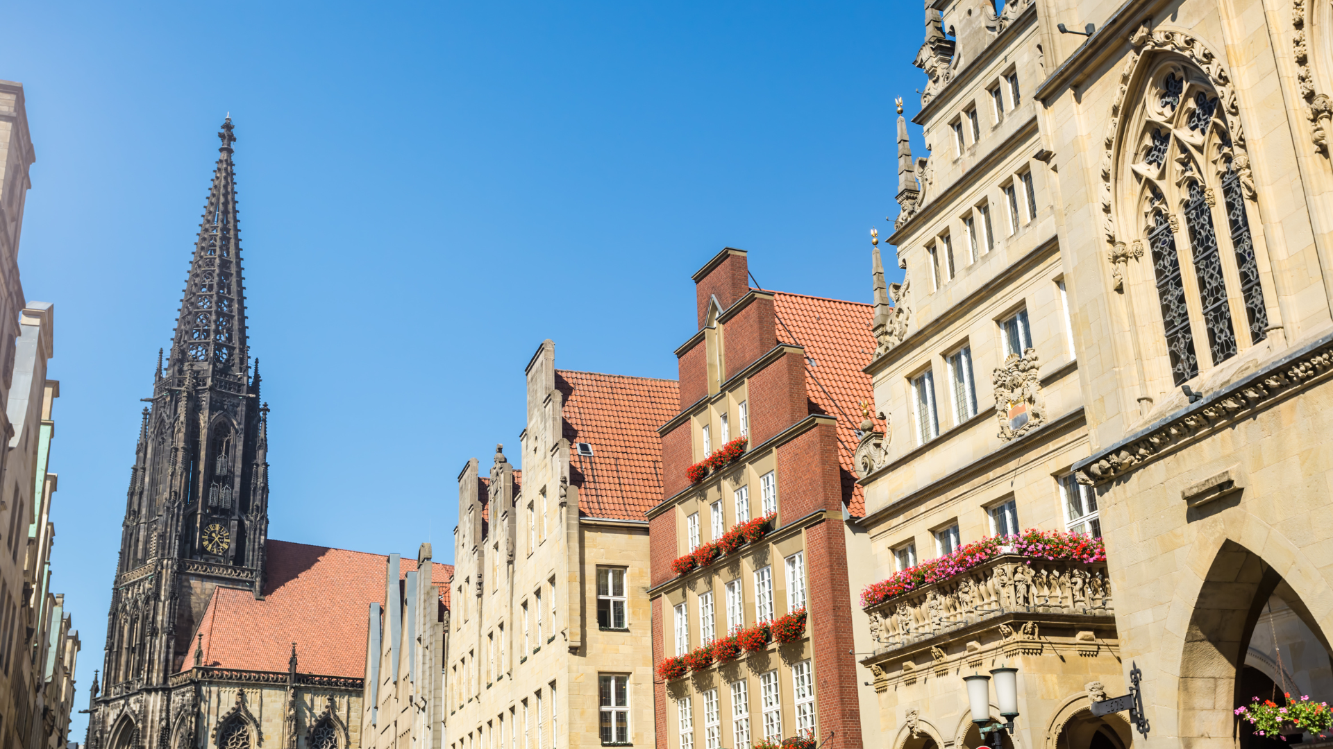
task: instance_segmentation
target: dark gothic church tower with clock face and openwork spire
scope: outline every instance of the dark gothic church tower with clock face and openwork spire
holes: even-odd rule
[[[165,368],[144,409],[107,622],[104,697],[165,685],[219,585],[261,596],[265,420],[249,374],[232,121],[189,264]],[[95,688],[96,689],[96,688]],[[149,737],[141,746],[152,746]]]

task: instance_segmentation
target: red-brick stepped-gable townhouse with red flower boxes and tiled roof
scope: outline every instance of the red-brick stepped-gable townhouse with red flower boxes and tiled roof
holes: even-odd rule
[[[676,349],[648,512],[657,746],[858,749],[873,692],[852,654],[849,576],[864,582],[866,565],[845,521],[864,514],[852,450],[870,305],[750,288],[732,248],[693,280],[697,333]]]

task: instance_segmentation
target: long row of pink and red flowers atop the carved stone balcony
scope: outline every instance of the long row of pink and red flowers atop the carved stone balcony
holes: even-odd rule
[[[924,561],[893,574],[888,580],[872,582],[861,590],[861,608],[881,604],[922,585],[949,580],[1002,554],[1081,562],[1106,561],[1106,548],[1101,538],[1030,528],[1020,536],[992,536],[973,541],[952,554]]]

